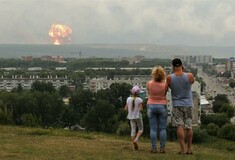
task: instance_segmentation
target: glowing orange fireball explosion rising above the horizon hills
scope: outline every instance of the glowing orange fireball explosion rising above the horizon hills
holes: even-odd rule
[[[71,40],[72,29],[63,24],[53,24],[48,32],[55,45],[69,43]]]

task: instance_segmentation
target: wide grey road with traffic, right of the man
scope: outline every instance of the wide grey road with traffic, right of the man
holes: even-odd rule
[[[230,103],[235,106],[235,90],[226,89],[218,78],[214,76],[208,76],[200,68],[198,68],[198,76],[202,77],[203,81],[206,83],[205,91],[207,94],[215,97],[217,94],[226,94]]]

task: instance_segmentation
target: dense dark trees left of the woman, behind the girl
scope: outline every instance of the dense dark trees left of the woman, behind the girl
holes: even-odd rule
[[[79,124],[88,131],[129,134],[124,105],[131,87],[114,83],[110,89],[93,93],[71,92],[67,86],[57,91],[52,84],[42,82],[35,82],[29,91],[19,86],[12,92],[0,92],[0,123],[60,128]],[[64,103],[64,96],[70,97],[68,104]],[[147,127],[146,112],[143,114]]]

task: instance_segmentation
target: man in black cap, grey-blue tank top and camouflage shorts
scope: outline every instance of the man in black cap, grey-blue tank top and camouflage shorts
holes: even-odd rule
[[[179,58],[172,60],[173,74],[167,76],[167,85],[171,89],[173,103],[173,125],[177,127],[177,137],[180,144],[179,154],[192,154],[192,117],[193,98],[191,85],[194,82],[192,73],[185,73]],[[184,132],[186,129],[186,132]],[[185,147],[185,139],[187,147]]]

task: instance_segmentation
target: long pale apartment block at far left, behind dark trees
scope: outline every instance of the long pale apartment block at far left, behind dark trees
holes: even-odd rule
[[[34,82],[44,82],[44,83],[52,83],[55,89],[59,89],[61,86],[69,85],[68,77],[53,77],[49,76],[46,78],[40,78],[37,75],[31,75],[30,77],[23,77],[22,75],[13,75],[12,77],[0,77],[0,91],[6,90],[11,91],[14,88],[17,88],[20,84],[23,89],[31,89],[31,86]]]

